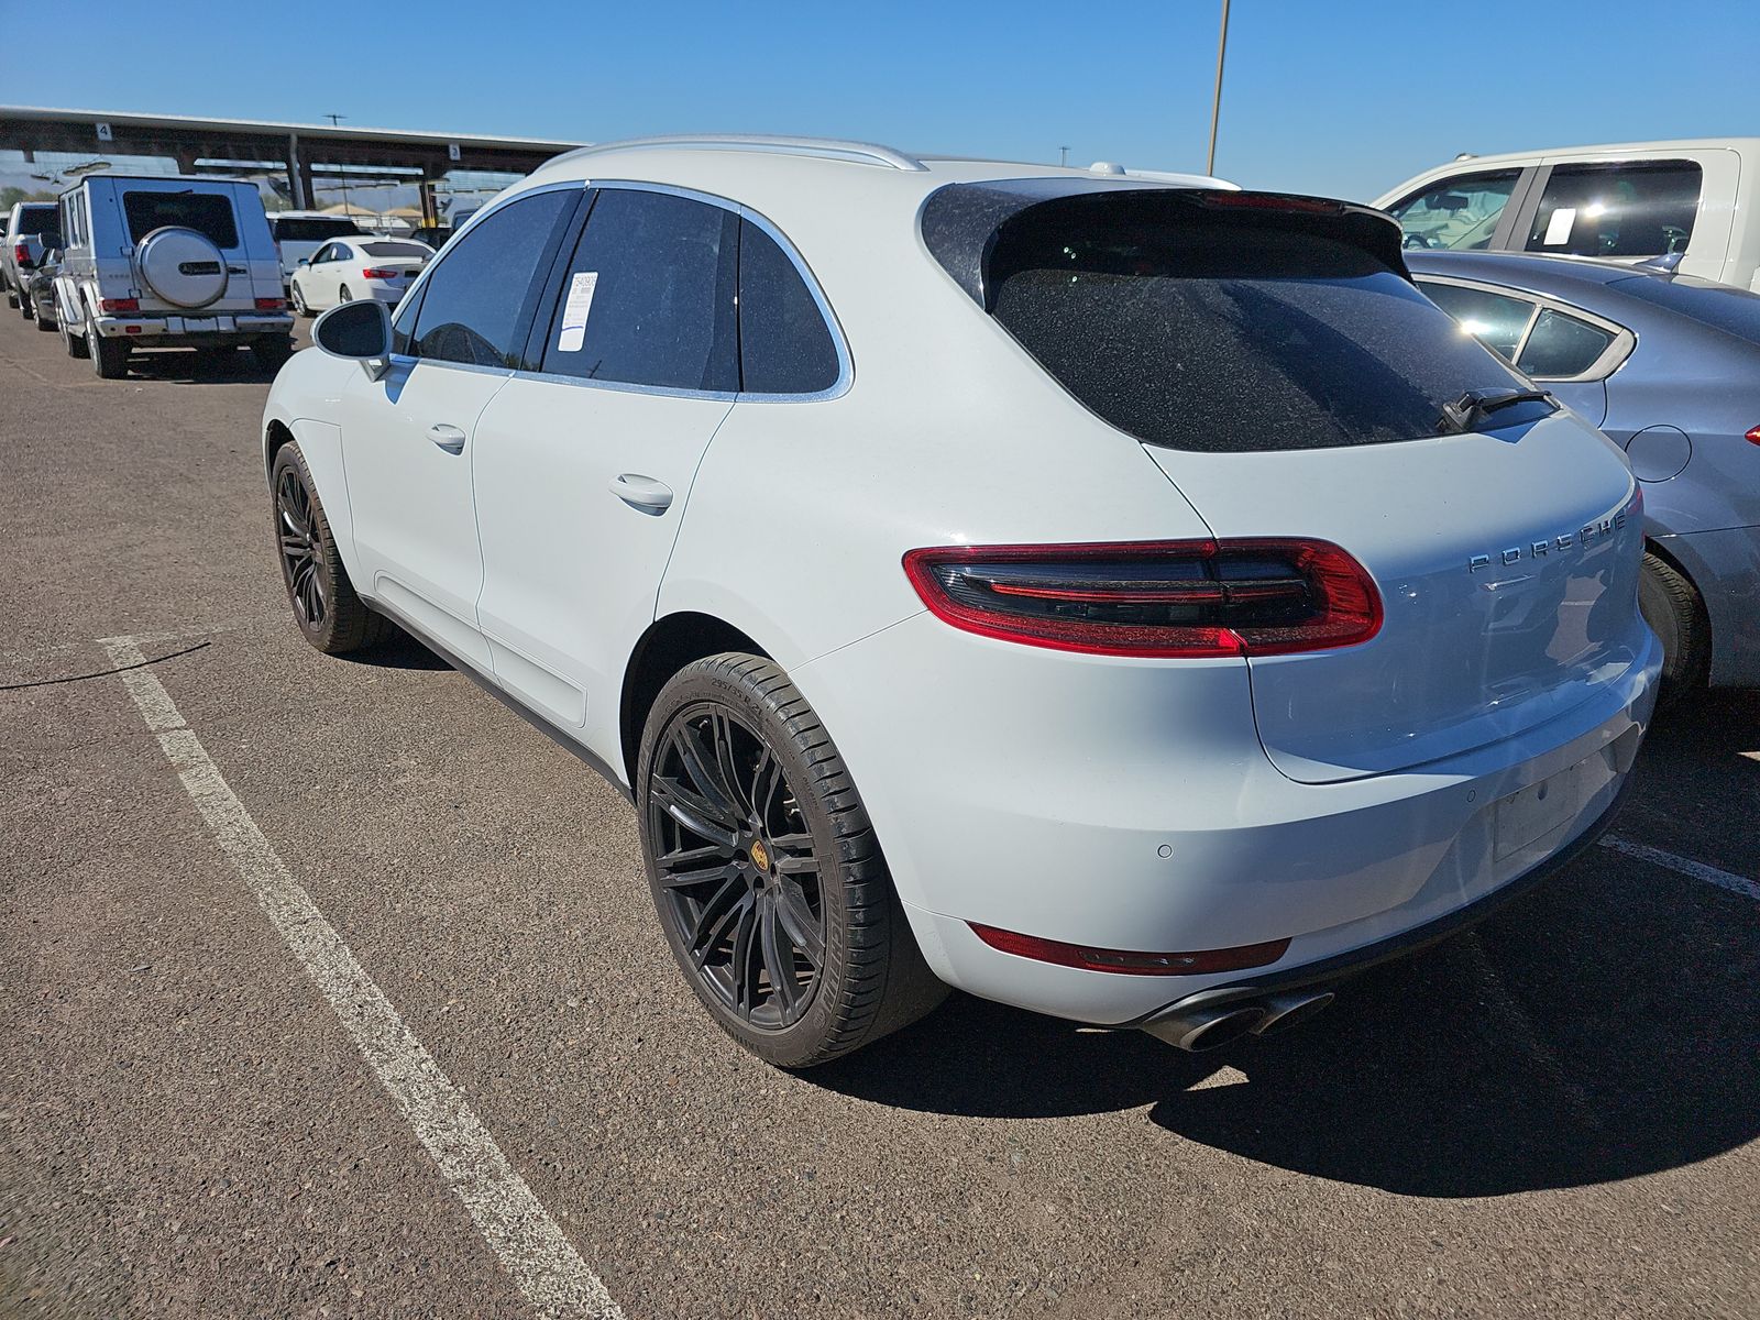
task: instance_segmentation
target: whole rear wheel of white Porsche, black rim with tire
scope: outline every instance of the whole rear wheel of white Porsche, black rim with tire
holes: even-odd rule
[[[674,674],[648,715],[635,783],[672,957],[753,1054],[808,1068],[947,998],[843,759],[773,662],[725,653]]]

